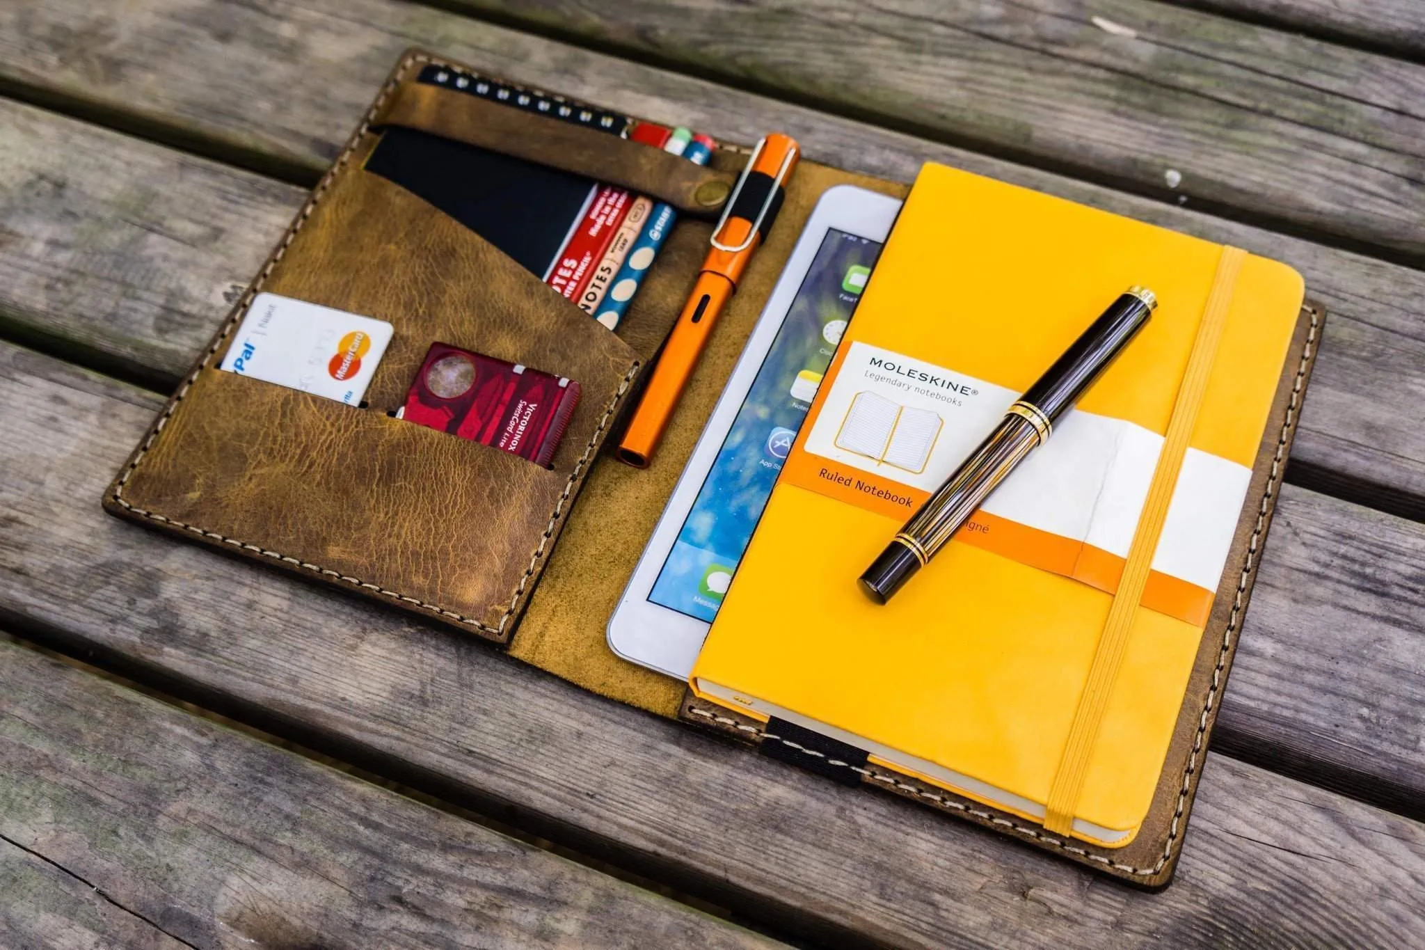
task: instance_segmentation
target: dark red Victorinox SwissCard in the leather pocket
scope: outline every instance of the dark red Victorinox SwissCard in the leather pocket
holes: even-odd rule
[[[579,383],[435,343],[399,417],[549,466],[579,404]]]

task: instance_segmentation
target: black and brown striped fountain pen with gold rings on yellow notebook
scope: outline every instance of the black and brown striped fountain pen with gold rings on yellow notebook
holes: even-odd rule
[[[1009,407],[995,432],[906,521],[861,575],[861,590],[875,602],[885,604],[912,574],[929,564],[1015,466],[1045,444],[1059,416],[1079,402],[1143,329],[1156,308],[1153,291],[1141,286],[1129,288],[1109,305],[1103,316]]]

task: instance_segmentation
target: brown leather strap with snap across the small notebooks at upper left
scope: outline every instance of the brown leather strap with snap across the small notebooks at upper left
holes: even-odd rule
[[[400,125],[489,148],[648,195],[693,215],[721,212],[734,178],[643,142],[416,81],[400,84],[372,125]]]

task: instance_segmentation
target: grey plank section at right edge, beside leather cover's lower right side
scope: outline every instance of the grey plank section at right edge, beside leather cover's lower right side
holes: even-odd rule
[[[1282,493],[1218,748],[1425,820],[1425,527]]]

